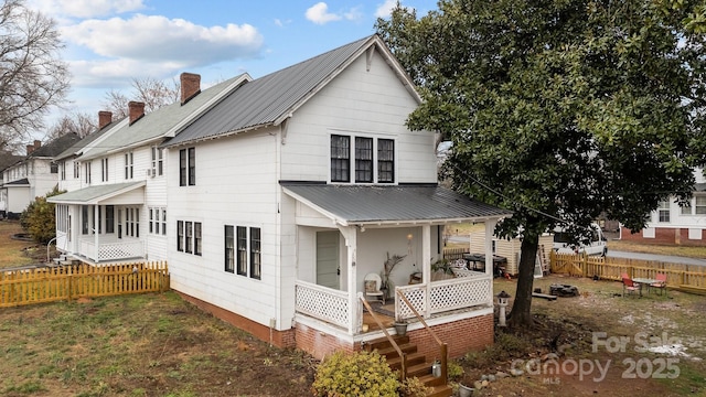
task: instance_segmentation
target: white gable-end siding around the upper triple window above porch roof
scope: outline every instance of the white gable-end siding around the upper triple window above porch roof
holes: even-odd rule
[[[436,182],[434,133],[404,126],[417,107],[394,72],[376,53],[366,71],[355,61],[291,118],[282,147],[282,179],[328,181],[330,135],[395,140],[396,181]]]

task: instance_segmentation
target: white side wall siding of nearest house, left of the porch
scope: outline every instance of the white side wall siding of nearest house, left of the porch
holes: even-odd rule
[[[168,152],[172,287],[261,324],[277,318],[279,307],[276,142],[275,136],[263,131],[196,144],[195,186],[179,186],[179,149]],[[202,257],[176,251],[176,221],[202,223]],[[260,228],[260,280],[224,270],[225,225]]]

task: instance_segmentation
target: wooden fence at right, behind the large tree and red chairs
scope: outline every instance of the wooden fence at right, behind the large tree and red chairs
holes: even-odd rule
[[[655,278],[667,276],[667,288],[706,293],[706,266],[671,264],[657,260],[598,257],[588,255],[564,255],[550,253],[550,269],[554,273],[621,281],[622,275],[631,278]]]

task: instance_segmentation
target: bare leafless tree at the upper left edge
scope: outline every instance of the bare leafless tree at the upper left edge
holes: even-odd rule
[[[0,150],[44,127],[52,106],[63,105],[69,73],[53,20],[23,0],[0,3]]]

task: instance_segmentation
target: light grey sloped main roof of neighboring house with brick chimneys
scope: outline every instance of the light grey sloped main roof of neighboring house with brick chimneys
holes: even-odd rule
[[[210,103],[215,100],[221,94],[236,88],[238,82],[246,79],[249,79],[247,74],[237,75],[204,89],[183,105],[176,101],[145,114],[145,117],[135,121],[132,125],[125,124],[96,148],[87,150],[83,158],[84,160],[95,159],[106,155],[109,152],[125,150],[135,144],[162,138],[179,124],[188,122],[191,117],[197,116],[200,110],[204,111],[205,109],[202,109],[202,107],[207,107]]]

